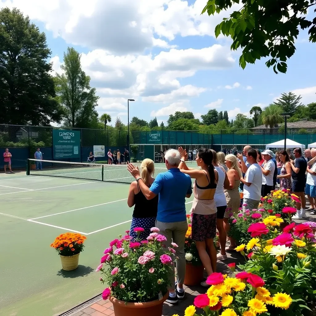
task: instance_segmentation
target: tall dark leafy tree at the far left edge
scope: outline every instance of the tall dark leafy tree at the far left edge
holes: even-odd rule
[[[60,123],[50,55],[45,33],[28,16],[17,9],[0,11],[0,123]]]

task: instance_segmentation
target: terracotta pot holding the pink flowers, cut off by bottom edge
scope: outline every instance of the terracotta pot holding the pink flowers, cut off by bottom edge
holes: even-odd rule
[[[146,303],[126,303],[113,296],[109,297],[113,304],[115,316],[161,316],[163,302],[167,300],[169,291],[163,296],[162,300],[155,300]]]

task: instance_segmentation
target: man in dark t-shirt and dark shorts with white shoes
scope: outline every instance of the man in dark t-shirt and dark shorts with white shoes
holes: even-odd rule
[[[302,157],[302,149],[295,148],[293,151],[295,156],[295,165],[294,161],[291,160],[291,168],[292,168],[292,191],[295,195],[301,198],[301,203],[296,203],[296,215],[294,215],[293,219],[301,219],[302,217],[306,217],[305,215],[305,184],[306,184],[306,169],[307,162],[304,157]]]

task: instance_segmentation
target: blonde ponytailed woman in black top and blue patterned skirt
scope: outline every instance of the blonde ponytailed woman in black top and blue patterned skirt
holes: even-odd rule
[[[144,183],[150,187],[154,182],[153,175],[155,173],[155,164],[149,158],[143,160],[141,164],[141,177]],[[151,200],[143,195],[140,190],[138,182],[133,181],[128,192],[127,205],[134,206],[133,218],[131,223],[130,235],[137,240],[145,240],[150,234],[150,228],[155,227],[157,209],[158,209],[158,195]],[[142,227],[144,231],[137,235],[134,228]]]

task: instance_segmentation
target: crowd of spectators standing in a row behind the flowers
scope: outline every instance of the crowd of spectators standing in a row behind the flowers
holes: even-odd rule
[[[312,149],[308,161],[302,156],[301,148],[293,151],[295,160],[291,160],[287,151],[278,153],[277,159],[282,168],[277,175],[277,162],[271,150],[252,149],[245,146],[243,155],[216,153],[213,149],[201,148],[197,150],[195,159],[197,168],[186,165],[189,153],[179,147],[169,149],[164,153],[167,171],[155,172],[154,161],[143,160],[141,173],[133,164],[127,169],[136,179],[131,183],[128,194],[128,206],[134,206],[131,223],[131,234],[134,238],[146,239],[150,228],[157,227],[166,236],[166,247],[171,243],[176,248],[177,281],[169,289],[169,303],[176,303],[184,298],[183,282],[185,277],[185,234],[188,228],[186,221],[185,198],[194,199],[191,207],[192,239],[200,259],[208,275],[216,272],[217,260],[226,260],[227,251],[232,251],[235,241],[230,240],[226,246],[226,236],[229,230],[228,216],[230,212],[240,210],[240,187],[243,185],[243,204],[247,208],[256,209],[261,197],[275,189],[276,179],[281,180],[282,189],[291,189],[301,197],[301,203],[296,204],[297,213],[294,218],[305,217],[305,193],[308,197],[316,196],[316,149]],[[305,153],[306,154],[306,153]],[[307,180],[305,177],[307,172]],[[193,190],[191,178],[194,179]],[[292,180],[291,180],[292,179]],[[306,184],[306,188],[305,188]],[[315,203],[311,203],[313,207]],[[245,211],[244,206],[244,211]],[[141,235],[133,235],[135,227],[144,228]],[[216,229],[219,233],[220,252],[214,246]],[[205,282],[201,285],[207,286]]]

